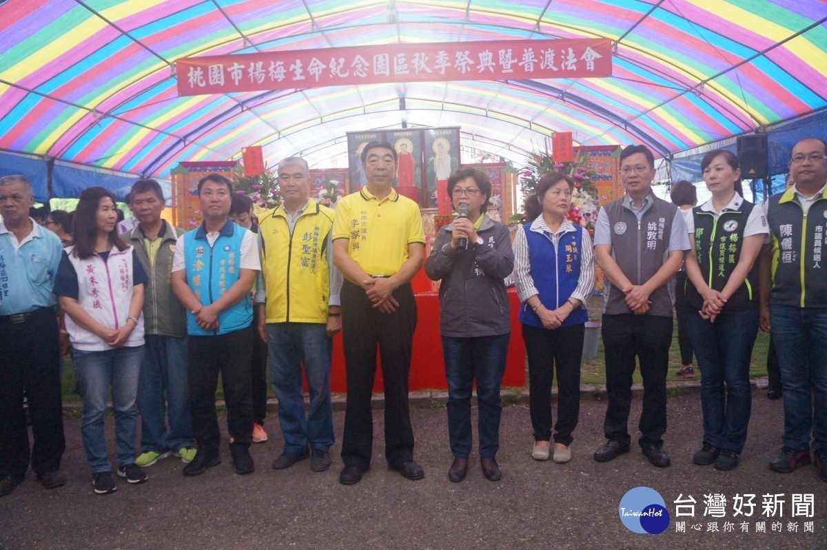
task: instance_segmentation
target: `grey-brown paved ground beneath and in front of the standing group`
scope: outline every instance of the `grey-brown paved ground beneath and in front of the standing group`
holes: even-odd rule
[[[637,425],[639,407],[635,399],[631,427]],[[169,458],[146,470],[145,485],[118,481],[117,492],[108,496],[93,494],[79,420],[67,418],[64,471],[69,482],[45,490],[30,472],[25,483],[2,497],[0,548],[827,548],[827,483],[819,481],[812,466],[787,475],[767,469],[781,444],[782,403],[756,393],[743,461],[730,472],[691,464],[701,440],[698,395],[669,401],[669,468],[649,465],[634,445],[614,462],[594,462],[591,454],[604,442],[604,413],[605,402],[581,403],[574,458],[557,465],[532,460],[528,409],[508,407],[498,455],[502,481],[486,481],[475,454],[466,481],[452,484],[446,477],[452,457],[445,409],[411,411],[416,458],[426,470],[422,481],[387,469],[382,411],[376,410],[373,467],[353,486],[337,483],[338,443],[329,471],[313,473],[308,461],[286,471],[271,469],[281,438],[270,414],[265,423],[270,441],[252,448],[258,467],[252,475],[233,473],[225,433],[224,462],[203,476],[184,478],[184,465]],[[344,414],[335,412],[337,435],[343,421]],[[111,417],[107,424],[112,452]],[[636,438],[634,429],[631,433]],[[653,487],[666,500],[672,522],[664,533],[632,533],[621,524],[620,499],[639,485]],[[704,517],[704,495],[712,493],[728,500],[724,518]],[[755,513],[746,519],[748,533],[740,532],[743,516],[734,517],[736,493],[757,495]],[[794,493],[814,495],[814,517],[791,517]],[[694,518],[678,518],[686,520],[686,533],[676,533],[673,502],[681,494],[698,503]],[[775,518],[781,533],[772,532],[772,519],[762,516],[764,494],[784,494],[783,517]],[[767,521],[767,533],[755,532],[760,520]],[[718,533],[707,532],[710,521],[718,522]],[[728,521],[735,533],[724,532]],[[815,533],[804,533],[805,521],[813,522]],[[797,522],[797,533],[788,531],[791,522]],[[700,525],[700,531],[691,525]]]

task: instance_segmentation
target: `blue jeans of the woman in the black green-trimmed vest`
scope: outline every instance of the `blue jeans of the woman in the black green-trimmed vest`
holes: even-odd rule
[[[721,313],[715,323],[687,311],[686,328],[700,368],[704,441],[740,453],[753,406],[749,361],[758,336],[758,309]]]

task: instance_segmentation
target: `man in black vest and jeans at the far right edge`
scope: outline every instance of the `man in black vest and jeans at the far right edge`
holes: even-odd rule
[[[761,328],[772,328],[784,395],[783,446],[770,469],[810,464],[812,438],[827,481],[827,144],[799,141],[789,166],[796,183],[767,201],[771,242],[762,257]]]

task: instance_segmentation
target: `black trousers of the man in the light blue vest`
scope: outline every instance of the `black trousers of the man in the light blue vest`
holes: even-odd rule
[[[219,372],[227,403],[227,431],[235,440],[230,449],[250,447],[253,433],[251,353],[251,333],[246,329],[218,336],[189,337],[189,415],[199,451],[217,451],[221,442],[215,411]]]

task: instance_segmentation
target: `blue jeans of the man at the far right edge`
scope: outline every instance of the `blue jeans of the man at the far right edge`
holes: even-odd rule
[[[827,308],[771,305],[784,389],[786,447],[827,451]]]

